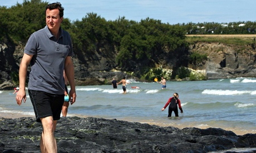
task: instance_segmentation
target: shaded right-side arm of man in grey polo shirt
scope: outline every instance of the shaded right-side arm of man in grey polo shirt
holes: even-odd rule
[[[70,83],[70,100],[72,97],[71,105],[76,101],[76,86],[75,86],[75,72],[71,57],[66,57],[65,60],[65,74]]]

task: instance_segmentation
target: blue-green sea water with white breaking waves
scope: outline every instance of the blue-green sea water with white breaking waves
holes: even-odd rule
[[[76,86],[76,103],[70,105],[67,116],[126,120],[159,126],[217,127],[238,135],[256,133],[256,78],[216,79],[206,81],[167,81],[161,84],[127,80],[127,94],[122,86]],[[140,89],[132,89],[139,86]],[[34,115],[27,94],[26,103],[17,105],[13,91],[0,91],[0,112]],[[184,113],[168,118],[164,107],[174,93],[179,94]],[[22,116],[21,116],[22,117]]]

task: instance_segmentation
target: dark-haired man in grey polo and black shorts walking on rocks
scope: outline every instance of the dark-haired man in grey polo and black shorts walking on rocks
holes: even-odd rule
[[[21,105],[22,100],[26,102],[26,75],[28,65],[31,64],[28,93],[36,119],[43,126],[41,152],[57,152],[54,131],[64,101],[64,69],[71,87],[69,93],[71,105],[76,101],[71,37],[60,27],[63,11],[61,3],[47,5],[46,27],[31,34],[19,67],[19,91],[16,101]]]

